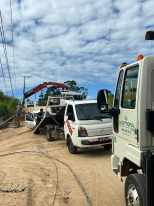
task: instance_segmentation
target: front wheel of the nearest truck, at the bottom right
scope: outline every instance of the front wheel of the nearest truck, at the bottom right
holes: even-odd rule
[[[130,174],[125,182],[126,205],[146,206],[146,184],[143,174]]]

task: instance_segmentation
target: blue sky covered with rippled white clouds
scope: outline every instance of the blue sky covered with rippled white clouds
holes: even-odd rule
[[[23,76],[31,76],[26,91],[75,80],[89,99],[101,88],[114,93],[119,65],[154,53],[154,43],[144,40],[154,30],[153,8],[153,0],[12,0],[14,68],[10,0],[1,0],[14,96],[22,98]],[[0,57],[12,95],[1,38]],[[0,89],[6,92],[1,68]]]

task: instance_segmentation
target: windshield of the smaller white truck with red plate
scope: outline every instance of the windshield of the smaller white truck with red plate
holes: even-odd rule
[[[100,113],[97,103],[77,104],[75,105],[75,109],[78,120],[101,120],[105,118],[111,118],[107,114]]]

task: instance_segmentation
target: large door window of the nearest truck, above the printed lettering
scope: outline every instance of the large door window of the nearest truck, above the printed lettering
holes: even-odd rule
[[[135,109],[138,71],[139,66],[126,70],[121,105],[123,108]]]

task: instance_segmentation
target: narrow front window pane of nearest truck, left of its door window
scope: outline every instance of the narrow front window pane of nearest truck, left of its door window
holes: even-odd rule
[[[116,107],[116,108],[119,108],[122,78],[123,78],[123,70],[120,71],[117,89],[116,89],[116,93],[115,93],[114,107]]]

